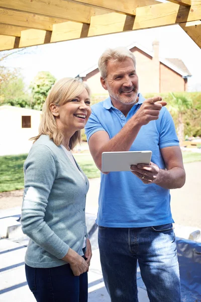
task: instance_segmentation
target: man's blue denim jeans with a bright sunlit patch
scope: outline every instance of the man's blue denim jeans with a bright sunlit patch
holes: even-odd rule
[[[104,281],[112,302],[138,302],[137,260],[150,302],[180,302],[172,223],[147,228],[98,226]]]

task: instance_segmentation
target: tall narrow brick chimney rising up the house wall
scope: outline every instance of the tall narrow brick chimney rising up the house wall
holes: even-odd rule
[[[153,41],[153,57],[152,57],[152,75],[153,86],[152,92],[160,92],[160,61],[159,61],[159,41]]]

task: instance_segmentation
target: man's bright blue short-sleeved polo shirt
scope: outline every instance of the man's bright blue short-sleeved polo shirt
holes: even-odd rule
[[[139,101],[127,117],[115,108],[110,97],[91,106],[92,113],[85,126],[87,141],[97,131],[106,131],[114,137],[137,112],[145,100]],[[160,149],[178,146],[174,123],[166,107],[156,121],[141,127],[130,150],[151,150],[151,161],[165,169]],[[143,184],[132,172],[101,173],[96,223],[111,228],[139,228],[174,222],[170,210],[170,192],[155,184]]]

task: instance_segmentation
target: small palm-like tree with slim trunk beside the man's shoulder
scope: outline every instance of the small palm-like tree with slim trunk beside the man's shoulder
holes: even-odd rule
[[[178,128],[177,135],[180,142],[180,145],[183,143],[184,139],[184,122],[183,115],[185,114],[187,109],[192,107],[192,100],[182,94],[182,93],[170,93],[171,103],[169,104],[169,110],[177,115],[178,119]]]

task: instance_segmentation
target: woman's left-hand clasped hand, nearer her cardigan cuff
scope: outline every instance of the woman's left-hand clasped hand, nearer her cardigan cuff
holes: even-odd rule
[[[74,276],[79,276],[88,271],[88,263],[72,249],[68,250],[68,253],[62,258],[62,260],[70,264],[70,268]]]

